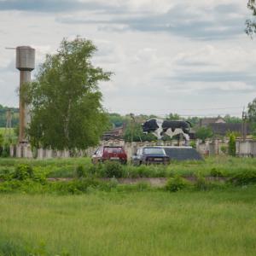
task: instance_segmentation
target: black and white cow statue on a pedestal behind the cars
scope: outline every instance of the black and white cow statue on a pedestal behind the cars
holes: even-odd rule
[[[164,134],[170,137],[183,134],[186,143],[188,143],[190,127],[191,124],[183,120],[149,119],[143,124],[143,132],[152,132],[159,140]]]

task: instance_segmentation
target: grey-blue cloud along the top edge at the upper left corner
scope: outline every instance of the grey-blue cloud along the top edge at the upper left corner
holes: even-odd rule
[[[0,1],[0,11],[21,10],[35,12],[70,12],[81,9],[108,9],[108,4],[89,1],[82,3],[75,0],[3,0]]]

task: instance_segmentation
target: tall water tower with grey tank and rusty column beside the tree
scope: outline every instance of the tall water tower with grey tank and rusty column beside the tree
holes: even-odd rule
[[[22,86],[31,81],[31,72],[35,68],[35,49],[30,46],[16,47],[16,68],[20,70],[20,91]],[[20,96],[20,131],[19,143],[28,143],[25,130],[30,123],[30,113],[26,102]]]

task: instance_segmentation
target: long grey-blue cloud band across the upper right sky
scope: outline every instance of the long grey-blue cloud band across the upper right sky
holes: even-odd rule
[[[90,23],[101,24],[100,30],[126,31],[134,30],[140,32],[169,32],[186,38],[201,40],[233,38],[244,32],[244,19],[231,17],[238,13],[236,4],[218,5],[216,8],[199,9],[204,15],[211,15],[212,19],[204,20],[201,15],[192,12],[189,7],[177,4],[165,14],[155,15],[148,13],[129,13],[125,18],[121,15],[109,15],[108,20],[90,20],[77,17],[59,18],[62,23]],[[108,13],[108,11],[106,11]],[[122,24],[123,28],[113,25]]]

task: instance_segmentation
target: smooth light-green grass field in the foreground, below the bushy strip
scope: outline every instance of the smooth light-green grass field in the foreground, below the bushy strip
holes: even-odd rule
[[[255,255],[255,195],[1,195],[0,255]]]

